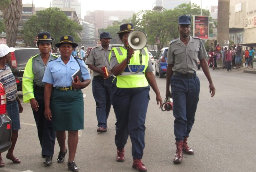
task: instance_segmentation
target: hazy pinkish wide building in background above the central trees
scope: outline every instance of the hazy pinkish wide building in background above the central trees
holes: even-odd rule
[[[87,11],[84,20],[96,24],[96,37],[98,37],[98,29],[107,28],[112,25],[113,21],[122,21],[132,17],[135,11]]]

